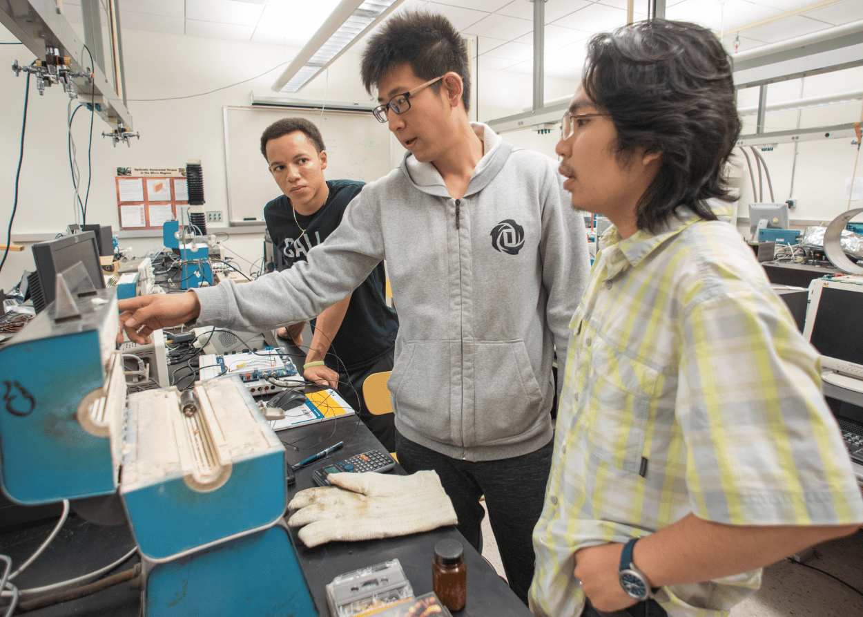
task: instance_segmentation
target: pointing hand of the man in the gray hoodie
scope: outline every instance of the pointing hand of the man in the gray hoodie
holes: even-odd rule
[[[123,343],[125,329],[129,340],[147,344],[154,330],[180,326],[198,318],[201,305],[194,292],[185,294],[152,294],[117,302],[120,309],[120,329],[117,343]]]

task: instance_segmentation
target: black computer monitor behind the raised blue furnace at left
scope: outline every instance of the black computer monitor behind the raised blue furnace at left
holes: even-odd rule
[[[96,289],[104,289],[102,266],[99,264],[99,249],[94,232],[80,232],[33,245],[33,259],[37,277],[30,281],[31,296],[36,311],[54,302],[54,286],[57,275],[70,266],[81,262]],[[40,289],[32,289],[38,283]]]

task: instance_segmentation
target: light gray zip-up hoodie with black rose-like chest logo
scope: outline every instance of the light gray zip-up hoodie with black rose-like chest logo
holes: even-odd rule
[[[473,127],[484,156],[462,199],[406,153],[307,262],[196,289],[198,324],[261,330],[309,319],[386,258],[400,323],[388,382],[400,433],[469,461],[544,446],[554,349],[562,365],[587,280],[583,215],[551,158]]]

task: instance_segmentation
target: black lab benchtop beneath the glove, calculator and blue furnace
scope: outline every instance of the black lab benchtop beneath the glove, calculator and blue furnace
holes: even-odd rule
[[[297,491],[313,486],[312,469],[370,449],[383,451],[381,443],[356,416],[287,429],[280,431],[278,436],[286,446],[289,464],[299,463],[333,443],[344,442],[343,448],[329,457],[295,472],[296,484],[290,487],[288,499]],[[404,474],[404,471],[396,467],[391,473]],[[0,529],[0,553],[11,557],[13,567],[17,567],[38,548],[54,528],[55,522],[56,519],[53,518]],[[296,532],[292,531],[300,568],[306,576],[318,613],[323,616],[329,614],[324,588],[326,583],[340,574],[394,558],[399,559],[405,570],[414,595],[431,591],[434,544],[445,537],[455,538],[463,544],[468,569],[467,605],[457,615],[530,615],[527,607],[507,587],[507,583],[454,526],[402,537],[363,542],[331,542],[312,549],[306,548],[296,536]],[[47,550],[16,578],[15,583],[18,588],[33,588],[81,576],[123,557],[134,546],[135,541],[127,525],[94,525],[72,514]],[[137,557],[131,557],[115,571],[132,568],[137,562]],[[5,605],[3,602],[0,607]],[[139,614],[140,606],[140,591],[123,583],[95,595],[66,601],[53,607],[43,607],[29,614],[34,617],[135,617]]]

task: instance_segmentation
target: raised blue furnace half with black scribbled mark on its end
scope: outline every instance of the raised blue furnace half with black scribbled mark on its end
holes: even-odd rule
[[[105,394],[117,300],[114,289],[100,289],[77,302],[80,315],[61,319],[52,302],[0,349],[0,485],[20,504],[117,490],[107,430],[82,424]]]

